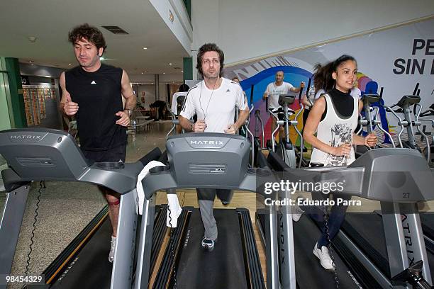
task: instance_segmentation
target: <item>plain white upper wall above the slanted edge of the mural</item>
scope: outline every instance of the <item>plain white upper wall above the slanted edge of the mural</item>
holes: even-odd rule
[[[216,42],[226,64],[434,15],[433,0],[191,2],[191,50]]]

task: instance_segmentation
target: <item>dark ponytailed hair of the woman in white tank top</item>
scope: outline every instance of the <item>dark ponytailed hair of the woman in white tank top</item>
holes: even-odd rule
[[[332,62],[328,62],[325,65],[316,64],[313,67],[313,86],[315,87],[315,91],[320,89],[324,89],[324,91],[330,91],[335,87],[335,79],[333,79],[333,72],[338,71],[338,67],[343,62],[347,62],[348,60],[352,60],[356,62],[355,58],[350,55],[342,55],[338,57],[338,59],[333,60]]]

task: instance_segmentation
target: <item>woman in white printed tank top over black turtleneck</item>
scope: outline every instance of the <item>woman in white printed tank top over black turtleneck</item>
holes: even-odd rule
[[[352,145],[368,145],[374,147],[377,137],[374,134],[361,137],[355,134],[357,117],[362,110],[362,102],[358,97],[350,94],[353,84],[357,80],[357,62],[348,55],[337,60],[315,67],[315,89],[323,89],[322,94],[315,101],[306,120],[304,140],[313,147],[311,166],[313,163],[324,166],[347,166],[354,162],[355,153]],[[345,188],[344,188],[345,190]],[[334,199],[350,200],[350,197],[333,194]],[[312,193],[315,200],[325,200],[328,194]],[[318,210],[320,209],[320,210]],[[323,221],[325,208],[314,208],[318,221]],[[327,270],[334,270],[335,266],[328,253],[328,245],[338,234],[345,219],[345,205],[333,205],[328,219],[328,234],[323,234],[313,248],[313,254]]]

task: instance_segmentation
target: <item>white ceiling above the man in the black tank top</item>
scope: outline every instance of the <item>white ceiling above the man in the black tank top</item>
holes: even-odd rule
[[[189,57],[148,0],[2,2],[3,57],[50,67],[68,68],[69,63],[74,66],[77,62],[67,34],[82,23],[101,29],[108,46],[104,53],[106,63],[122,67],[128,74],[182,74],[182,57]],[[129,34],[115,35],[101,26],[119,26]],[[37,38],[33,43],[28,40],[31,36]]]

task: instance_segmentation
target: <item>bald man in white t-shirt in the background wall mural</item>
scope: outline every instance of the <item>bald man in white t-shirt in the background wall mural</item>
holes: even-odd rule
[[[298,93],[301,87],[294,87],[289,82],[284,82],[284,72],[276,72],[276,81],[267,85],[267,89],[264,92],[264,99],[269,98],[268,106],[272,111],[276,111],[279,106],[279,95],[289,94],[289,92]],[[301,82],[304,85],[304,82]],[[272,117],[272,132],[276,129],[276,118]],[[280,133],[283,133],[283,127],[280,129]]]

